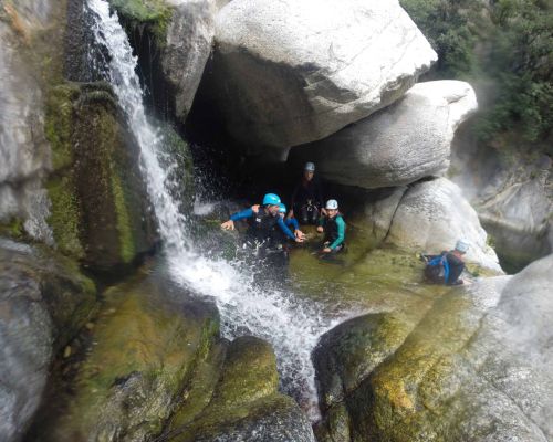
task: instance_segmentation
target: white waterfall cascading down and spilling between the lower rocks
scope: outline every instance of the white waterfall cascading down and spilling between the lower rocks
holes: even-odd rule
[[[170,181],[170,158],[164,154],[163,137],[148,120],[143,91],[136,74],[137,60],[116,13],[105,0],[87,0],[95,17],[94,34],[105,49],[107,80],[138,141],[142,170],[159,222],[170,276],[194,293],[212,297],[219,308],[222,333],[234,338],[252,334],[270,341],[278,357],[283,388],[317,418],[314,369],[311,351],[319,336],[338,323],[324,318],[314,304],[293,294],[254,284],[254,272],[243,263],[209,257],[194,244],[186,218],[179,211],[175,183]],[[163,167],[163,165],[169,165]]]

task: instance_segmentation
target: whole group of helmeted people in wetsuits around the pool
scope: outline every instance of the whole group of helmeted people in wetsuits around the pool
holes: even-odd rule
[[[315,224],[323,240],[319,248],[319,256],[326,257],[345,250],[346,223],[338,209],[338,202],[323,200],[321,183],[314,179],[315,165],[306,162],[302,180],[294,188],[290,210],[275,193],[267,193],[261,204],[233,213],[221,224],[225,230],[234,230],[240,220],[248,222],[246,244],[253,248],[262,259],[272,257],[272,263],[288,263],[288,242],[303,243],[305,234],[300,224]],[[460,275],[465,270],[462,255],[469,244],[459,240],[451,251],[439,255],[421,255],[426,262],[425,276],[439,284],[462,284]]]

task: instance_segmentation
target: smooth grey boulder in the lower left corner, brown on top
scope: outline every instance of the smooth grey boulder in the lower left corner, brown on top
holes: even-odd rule
[[[0,440],[22,439],[53,355],[93,314],[94,284],[63,256],[0,239]]]

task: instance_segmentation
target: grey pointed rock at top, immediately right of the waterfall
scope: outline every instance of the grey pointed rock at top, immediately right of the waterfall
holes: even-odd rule
[[[148,93],[185,122],[211,53],[216,0],[109,0],[135,46]]]

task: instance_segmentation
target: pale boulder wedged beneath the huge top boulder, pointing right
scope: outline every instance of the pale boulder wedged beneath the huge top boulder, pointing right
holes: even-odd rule
[[[468,83],[418,83],[386,109],[292,149],[290,158],[315,161],[324,178],[346,186],[408,185],[448,169],[453,134],[477,107]]]

